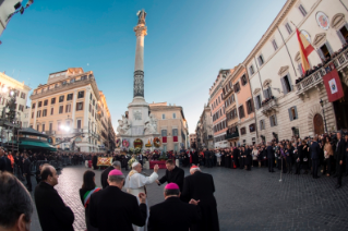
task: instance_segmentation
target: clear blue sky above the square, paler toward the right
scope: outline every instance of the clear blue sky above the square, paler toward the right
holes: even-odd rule
[[[285,2],[35,0],[0,37],[0,71],[32,88],[68,68],[93,71],[116,130],[133,97],[133,27],[144,9],[145,99],[182,106],[192,133],[218,71],[244,60]]]

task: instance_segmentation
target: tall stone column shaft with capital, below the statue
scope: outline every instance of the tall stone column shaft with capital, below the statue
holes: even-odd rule
[[[147,35],[145,22],[134,27],[136,36],[133,98],[144,98],[144,37]]]

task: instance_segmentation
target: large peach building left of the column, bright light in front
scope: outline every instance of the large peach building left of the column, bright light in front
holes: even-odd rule
[[[72,144],[81,151],[110,148],[110,113],[92,71],[70,68],[51,73],[31,99],[29,126],[49,135],[58,148],[71,149]]]

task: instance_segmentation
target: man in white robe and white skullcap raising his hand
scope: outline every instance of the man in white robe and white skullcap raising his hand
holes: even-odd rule
[[[154,172],[149,177],[145,177],[144,174],[141,174],[142,172],[142,165],[140,162],[133,162],[132,163],[132,171],[127,175],[124,187],[127,189],[127,192],[136,196],[137,203],[140,203],[140,198],[137,195],[140,193],[146,193],[146,184],[154,183],[158,178],[158,165],[154,167]],[[147,200],[146,200],[147,206]],[[148,215],[148,212],[147,212]],[[148,218],[148,216],[147,216]],[[147,231],[147,218],[146,218],[146,224],[144,227],[136,227],[133,226],[134,231]]]

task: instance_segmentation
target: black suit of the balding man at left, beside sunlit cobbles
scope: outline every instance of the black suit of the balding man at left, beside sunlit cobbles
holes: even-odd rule
[[[74,214],[53,186],[41,181],[35,189],[34,198],[43,231],[74,230]]]

